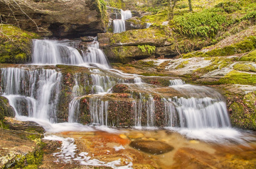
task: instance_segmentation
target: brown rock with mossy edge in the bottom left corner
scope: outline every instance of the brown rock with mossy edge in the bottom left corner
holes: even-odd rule
[[[37,168],[43,159],[42,127],[12,118],[6,118],[1,127],[0,168]]]

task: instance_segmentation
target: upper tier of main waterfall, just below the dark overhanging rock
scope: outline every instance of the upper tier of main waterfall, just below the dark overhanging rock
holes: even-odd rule
[[[78,49],[68,41],[57,40],[33,40],[33,64],[72,64],[85,65],[93,64],[94,66],[110,69],[105,54],[99,49],[97,41],[89,45],[87,51]]]

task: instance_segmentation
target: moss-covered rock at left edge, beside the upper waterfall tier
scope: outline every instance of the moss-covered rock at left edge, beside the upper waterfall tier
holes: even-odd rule
[[[40,38],[13,25],[1,24],[0,63],[23,64],[31,61],[31,40]]]

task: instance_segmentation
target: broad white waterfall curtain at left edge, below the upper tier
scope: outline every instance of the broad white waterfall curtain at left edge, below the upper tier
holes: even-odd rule
[[[9,98],[16,115],[24,115],[25,109],[30,117],[56,122],[61,76],[52,69],[2,68],[2,94]]]

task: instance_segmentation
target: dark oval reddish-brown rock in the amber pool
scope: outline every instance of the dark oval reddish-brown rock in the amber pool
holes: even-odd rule
[[[162,154],[172,151],[174,149],[173,146],[166,144],[161,141],[132,141],[129,146],[136,148],[138,150],[144,151],[146,153],[152,154]]]

